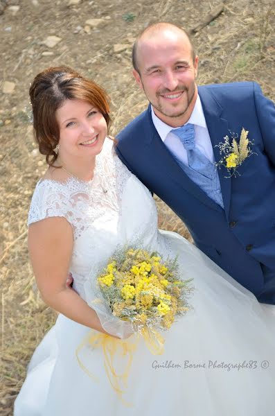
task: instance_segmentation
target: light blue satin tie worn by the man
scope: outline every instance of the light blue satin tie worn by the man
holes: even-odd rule
[[[213,164],[203,153],[195,147],[195,129],[193,124],[186,124],[183,127],[171,130],[174,135],[179,137],[186,149],[188,165],[197,173],[213,178]]]

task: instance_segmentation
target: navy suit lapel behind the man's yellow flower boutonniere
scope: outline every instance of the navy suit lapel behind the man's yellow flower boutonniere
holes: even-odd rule
[[[213,153],[215,162],[219,162],[222,158],[218,144],[224,141],[224,137],[229,135],[229,125],[226,119],[222,118],[223,108],[215,101],[215,98],[206,87],[199,87],[199,98],[202,101],[202,108],[204,110],[204,117],[206,125],[209,130],[209,136],[213,146]],[[218,175],[220,178],[220,187],[222,191],[222,199],[224,202],[224,211],[229,218],[230,198],[231,198],[231,177],[225,166],[218,168]]]

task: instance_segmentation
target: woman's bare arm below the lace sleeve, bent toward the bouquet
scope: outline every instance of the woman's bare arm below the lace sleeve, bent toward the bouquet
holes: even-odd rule
[[[96,312],[66,285],[73,250],[73,230],[66,219],[45,218],[31,224],[28,250],[44,302],[71,320],[106,333]]]

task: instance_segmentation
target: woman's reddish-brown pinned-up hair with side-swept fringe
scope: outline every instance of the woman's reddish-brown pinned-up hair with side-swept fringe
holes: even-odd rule
[[[65,100],[87,101],[103,114],[107,128],[109,116],[109,97],[104,89],[94,81],[80,75],[69,67],[50,67],[45,69],[30,85],[30,102],[33,107],[33,129],[39,152],[46,155],[51,166],[57,159],[56,146],[60,139],[60,129],[55,112]]]

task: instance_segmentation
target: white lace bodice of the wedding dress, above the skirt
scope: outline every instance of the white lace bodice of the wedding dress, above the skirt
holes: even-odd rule
[[[117,245],[156,246],[157,209],[139,180],[118,159],[112,141],[105,139],[96,157],[94,178],[83,182],[39,180],[33,194],[28,225],[61,216],[73,228],[70,271],[74,288],[85,297],[83,284],[102,268]]]

